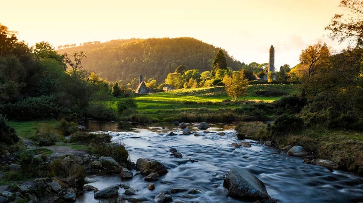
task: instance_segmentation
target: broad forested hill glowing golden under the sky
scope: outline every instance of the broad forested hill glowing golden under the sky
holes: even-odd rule
[[[82,62],[83,67],[109,81],[123,79],[129,82],[130,79],[143,74],[146,78],[154,78],[161,82],[179,65],[185,65],[188,70],[199,69],[200,72],[211,70],[213,58],[219,49],[187,37],[120,42],[118,46],[102,46],[109,43],[106,42],[58,49],[58,53],[84,51],[87,58]],[[241,68],[241,62],[234,60],[227,52],[225,56],[228,67],[235,70]]]

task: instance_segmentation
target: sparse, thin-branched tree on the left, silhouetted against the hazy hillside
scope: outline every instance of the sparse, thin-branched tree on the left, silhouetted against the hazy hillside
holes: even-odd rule
[[[66,72],[80,79],[87,77],[88,75],[86,75],[86,72],[81,70],[81,63],[84,58],[87,58],[87,56],[85,53],[83,53],[83,51],[73,52],[72,55],[65,53],[64,62],[70,66],[70,69],[68,69]]]

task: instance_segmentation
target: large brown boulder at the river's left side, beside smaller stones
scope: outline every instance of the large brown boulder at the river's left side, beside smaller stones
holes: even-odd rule
[[[168,169],[159,161],[142,158],[136,161],[136,170],[142,174],[158,173],[160,176],[168,172]]]

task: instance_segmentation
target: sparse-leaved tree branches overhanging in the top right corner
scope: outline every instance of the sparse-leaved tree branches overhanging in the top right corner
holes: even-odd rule
[[[338,38],[339,42],[346,39],[356,40],[356,46],[363,46],[363,1],[341,0],[339,7],[346,8],[351,14],[335,14],[325,30],[330,30],[330,37]]]

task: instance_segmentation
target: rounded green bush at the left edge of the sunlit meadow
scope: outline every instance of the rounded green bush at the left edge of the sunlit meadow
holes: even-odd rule
[[[116,120],[115,110],[106,107],[106,104],[103,103],[90,104],[86,109],[85,116],[97,120]]]

